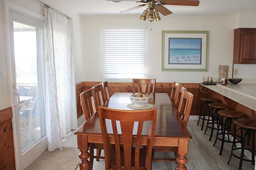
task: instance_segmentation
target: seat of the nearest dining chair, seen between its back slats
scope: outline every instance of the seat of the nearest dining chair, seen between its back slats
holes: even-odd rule
[[[140,149],[140,170],[145,170],[145,161],[146,161],[146,151],[147,149],[146,148],[141,148]],[[135,153],[135,147],[132,147],[132,155],[134,155]],[[120,146],[120,154],[121,154],[121,170],[124,170],[124,149],[122,146]],[[112,158],[116,158],[116,149],[115,149],[115,146],[112,145],[110,147],[110,156]],[[152,160],[154,158],[154,149],[152,151]],[[134,167],[134,156],[132,156],[131,158],[131,166]],[[116,169],[116,159],[111,159],[111,169],[115,170]]]

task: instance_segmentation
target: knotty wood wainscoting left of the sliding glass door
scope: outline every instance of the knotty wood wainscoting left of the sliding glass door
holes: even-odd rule
[[[0,169],[15,170],[12,107],[0,110]]]

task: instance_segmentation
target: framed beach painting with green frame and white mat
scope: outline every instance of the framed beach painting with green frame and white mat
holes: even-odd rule
[[[208,71],[209,31],[162,31],[162,71]]]

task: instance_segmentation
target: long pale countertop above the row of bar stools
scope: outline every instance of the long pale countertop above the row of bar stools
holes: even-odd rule
[[[227,85],[202,84],[202,86],[256,111],[256,84],[254,83],[238,83]]]

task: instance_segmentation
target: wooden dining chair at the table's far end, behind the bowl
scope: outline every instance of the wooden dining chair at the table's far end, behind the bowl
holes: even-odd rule
[[[132,79],[132,91],[141,93],[154,93],[156,86],[156,79]],[[137,90],[136,90],[137,89]],[[151,90],[152,89],[152,90]]]

